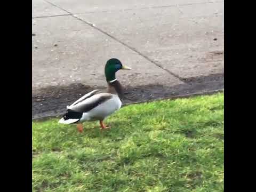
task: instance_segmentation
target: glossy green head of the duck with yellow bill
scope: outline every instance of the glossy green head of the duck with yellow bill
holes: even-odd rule
[[[131,70],[130,67],[124,66],[121,61],[118,59],[109,59],[105,66],[105,76],[107,79],[107,82],[111,82],[116,79],[116,72],[119,69],[127,69]]]

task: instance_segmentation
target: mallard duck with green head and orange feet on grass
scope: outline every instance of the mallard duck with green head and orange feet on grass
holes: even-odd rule
[[[123,87],[116,79],[119,69],[131,70],[118,59],[109,59],[105,66],[107,90],[93,90],[67,106],[67,111],[59,123],[77,124],[77,130],[83,132],[83,122],[99,121],[101,130],[109,129],[110,126],[103,124],[103,120],[122,106]]]

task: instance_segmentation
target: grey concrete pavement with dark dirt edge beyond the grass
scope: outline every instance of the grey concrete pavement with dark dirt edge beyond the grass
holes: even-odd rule
[[[125,103],[223,89],[223,1],[33,0],[33,118],[60,114],[118,58]]]

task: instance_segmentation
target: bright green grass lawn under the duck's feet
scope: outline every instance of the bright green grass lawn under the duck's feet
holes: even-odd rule
[[[223,93],[122,108],[98,122],[33,122],[33,191],[223,191]]]

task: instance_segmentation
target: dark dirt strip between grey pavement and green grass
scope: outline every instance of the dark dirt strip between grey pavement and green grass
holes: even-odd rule
[[[186,95],[207,94],[224,89],[224,75],[214,74],[186,78],[186,84],[175,86],[146,85],[126,87],[123,106],[131,103],[157,99],[187,97]],[[32,119],[57,116],[65,113],[66,106],[87,92],[104,87],[90,87],[83,84],[45,87],[34,92],[32,97]]]

